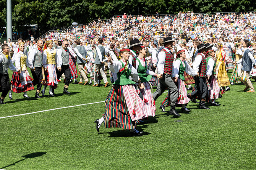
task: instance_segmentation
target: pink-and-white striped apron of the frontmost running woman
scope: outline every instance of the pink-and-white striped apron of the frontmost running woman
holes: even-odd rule
[[[147,117],[143,101],[139,98],[136,88],[133,85],[123,85],[122,89],[131,120],[135,121]]]

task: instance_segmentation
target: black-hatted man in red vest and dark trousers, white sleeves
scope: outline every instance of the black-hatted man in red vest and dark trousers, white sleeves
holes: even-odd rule
[[[205,99],[207,95],[207,84],[206,84],[206,46],[204,44],[200,44],[197,46],[198,54],[196,55],[194,59],[194,66],[193,69],[197,72],[199,72],[199,76],[195,76],[195,86],[194,91],[192,93],[188,94],[188,98],[193,98],[198,96],[198,99],[200,99],[199,108],[200,109],[210,109],[209,107],[206,107]]]

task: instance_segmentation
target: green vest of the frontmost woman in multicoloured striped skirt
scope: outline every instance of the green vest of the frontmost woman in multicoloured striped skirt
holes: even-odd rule
[[[122,69],[125,67],[125,64],[119,60],[122,63]],[[117,73],[117,80],[113,83],[115,85],[129,85],[129,84],[135,84],[134,81],[130,80],[129,77],[131,75],[131,69],[124,69],[121,72]]]

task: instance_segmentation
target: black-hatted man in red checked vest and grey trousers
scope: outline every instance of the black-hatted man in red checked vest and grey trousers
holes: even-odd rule
[[[170,98],[170,114],[174,116],[180,116],[175,109],[175,102],[178,100],[178,88],[172,80],[172,64],[173,64],[173,53],[172,45],[175,40],[172,40],[172,37],[164,38],[164,48],[158,54],[158,63],[157,69],[158,73],[162,75],[162,78],[159,79],[159,83],[156,89],[156,92],[153,93],[154,101],[164,93],[167,88]]]

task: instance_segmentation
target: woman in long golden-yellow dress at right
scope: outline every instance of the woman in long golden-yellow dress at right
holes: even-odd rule
[[[216,75],[219,80],[220,86],[226,87],[225,91],[228,91],[230,90],[230,87],[229,87],[230,82],[229,82],[228,74],[226,71],[225,63],[227,61],[227,63],[235,64],[235,62],[232,59],[230,59],[228,56],[226,56],[222,43],[217,43],[217,48],[218,50],[216,51],[216,57],[217,57]]]

